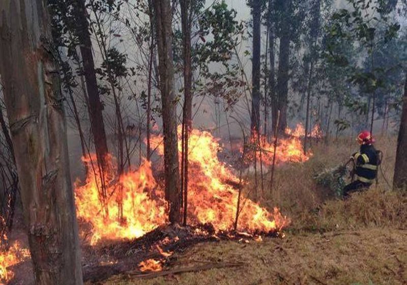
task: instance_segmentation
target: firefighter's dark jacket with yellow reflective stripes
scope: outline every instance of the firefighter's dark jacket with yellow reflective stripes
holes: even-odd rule
[[[355,179],[368,184],[373,184],[379,168],[379,155],[372,145],[362,145],[360,151],[352,156],[355,160]]]

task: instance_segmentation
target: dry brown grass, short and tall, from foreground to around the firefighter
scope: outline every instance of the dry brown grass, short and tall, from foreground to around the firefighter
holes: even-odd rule
[[[292,219],[284,238],[199,244],[176,253],[170,263],[170,268],[197,260],[246,266],[149,280],[121,275],[103,284],[407,284],[407,195],[387,185],[393,177],[395,140],[377,143],[384,152],[379,185],[345,202],[318,189],[311,179],[324,167],[346,161],[357,150],[353,143],[314,146],[307,163],[277,169],[273,191],[265,181],[260,203],[277,205]]]

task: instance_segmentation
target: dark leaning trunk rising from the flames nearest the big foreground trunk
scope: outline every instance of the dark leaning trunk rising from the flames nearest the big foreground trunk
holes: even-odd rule
[[[83,0],[74,0],[73,9],[76,18],[76,34],[80,44],[80,53],[82,55],[83,74],[86,81],[86,90],[88,91],[88,110],[91,119],[91,128],[95,143],[95,151],[98,163],[105,169],[105,161],[108,153],[105,127],[103,123],[103,105],[100,101],[98,84],[96,81],[95,63],[92,54],[92,41],[89,33],[88,15]]]

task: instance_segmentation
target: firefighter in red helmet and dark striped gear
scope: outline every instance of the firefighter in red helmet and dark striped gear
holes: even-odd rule
[[[377,177],[380,159],[378,152],[373,147],[374,138],[370,132],[363,131],[358,135],[357,141],[360,145],[360,151],[351,156],[355,163],[353,172],[355,180],[343,189],[344,198],[348,197],[352,192],[368,189]]]

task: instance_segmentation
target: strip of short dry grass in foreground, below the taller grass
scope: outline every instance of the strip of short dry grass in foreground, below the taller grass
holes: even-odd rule
[[[246,265],[154,279],[121,275],[102,284],[407,284],[406,237],[405,229],[366,228],[203,243],[175,254],[169,268],[198,261]]]

